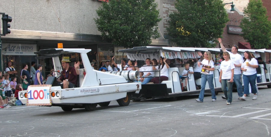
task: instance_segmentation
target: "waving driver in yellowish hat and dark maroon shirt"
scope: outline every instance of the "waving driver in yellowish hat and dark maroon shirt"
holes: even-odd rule
[[[77,87],[77,75],[80,73],[77,67],[80,65],[80,62],[75,63],[74,67],[71,67],[69,65],[70,57],[63,57],[61,61],[61,65],[63,67],[63,70],[61,74],[64,76],[60,76],[58,81],[62,82],[63,84],[60,84],[61,88],[76,88]]]

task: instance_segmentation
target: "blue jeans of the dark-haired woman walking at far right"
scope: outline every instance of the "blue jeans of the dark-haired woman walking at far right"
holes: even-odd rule
[[[257,78],[257,73],[253,74],[253,75],[243,75],[243,80],[244,80],[244,94],[249,94],[249,83],[251,86],[251,93],[256,94],[257,93],[257,89],[255,86],[255,82],[256,82],[256,78]]]

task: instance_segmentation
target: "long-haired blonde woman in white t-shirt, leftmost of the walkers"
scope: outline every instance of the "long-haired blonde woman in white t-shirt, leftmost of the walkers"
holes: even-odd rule
[[[196,99],[196,101],[203,102],[206,81],[208,81],[209,83],[209,88],[212,94],[212,101],[216,101],[215,89],[213,84],[215,70],[214,62],[212,61],[211,53],[209,51],[206,51],[203,56],[204,59],[202,60],[202,62],[198,62],[198,66],[202,65],[202,70],[204,70],[204,72],[209,71],[209,74],[201,74],[201,89],[199,93],[199,99]],[[210,66],[210,68],[204,67],[204,65],[208,65]]]

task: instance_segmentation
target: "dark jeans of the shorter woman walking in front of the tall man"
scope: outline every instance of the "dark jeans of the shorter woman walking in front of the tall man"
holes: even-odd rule
[[[231,103],[232,101],[232,84],[231,82],[228,82],[228,80],[231,79],[222,79],[221,80],[221,88],[222,91],[224,92],[224,95],[227,99],[227,102]]]

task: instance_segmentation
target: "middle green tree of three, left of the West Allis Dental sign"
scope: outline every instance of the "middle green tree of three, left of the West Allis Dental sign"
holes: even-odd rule
[[[167,34],[180,47],[215,47],[228,14],[221,0],[177,0]]]

